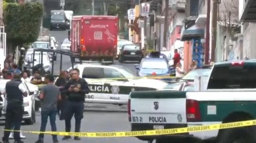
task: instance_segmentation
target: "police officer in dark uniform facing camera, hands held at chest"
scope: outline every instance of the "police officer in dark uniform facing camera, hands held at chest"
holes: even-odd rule
[[[83,118],[84,98],[85,94],[89,93],[89,87],[87,82],[79,78],[79,70],[73,69],[70,74],[72,79],[69,80],[62,94],[67,95],[67,104],[65,109],[65,130],[70,132],[71,118],[75,117],[75,132],[80,132],[81,119]],[[69,139],[71,136],[64,136],[63,140]],[[78,136],[74,137],[74,140],[80,140]]]

